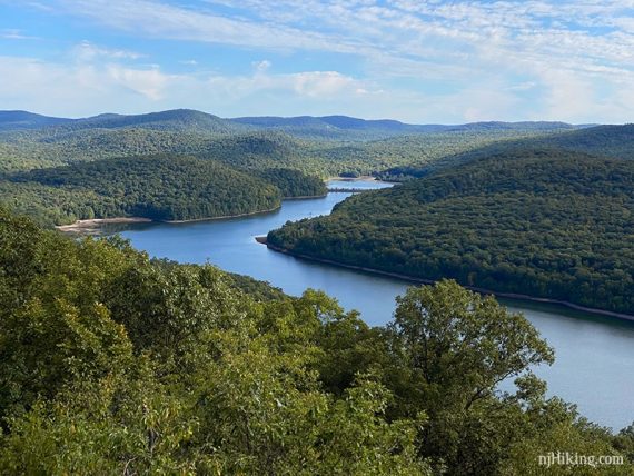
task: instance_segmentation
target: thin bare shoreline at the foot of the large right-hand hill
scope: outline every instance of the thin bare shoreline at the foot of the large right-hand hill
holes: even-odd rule
[[[414,284],[433,285],[434,282],[436,282],[436,280],[434,280],[434,279],[417,278],[414,276],[402,275],[398,272],[383,271],[380,269],[367,268],[365,266],[348,265],[348,264],[338,262],[338,261],[335,261],[331,259],[316,258],[316,257],[311,257],[308,255],[296,254],[296,252],[289,251],[285,248],[280,248],[278,246],[269,244],[266,236],[256,237],[256,241],[259,242],[260,245],[266,245],[266,247],[268,249],[271,249],[276,252],[281,252],[284,255],[293,256],[295,258],[306,259],[309,261],[324,262],[326,265],[338,266],[340,268],[348,268],[348,269],[355,269],[358,271],[365,271],[365,272],[373,274],[373,275],[387,276],[390,278],[397,278],[397,279],[410,281]],[[460,285],[460,286],[463,286],[463,285]],[[526,300],[526,301],[533,301],[533,303],[554,304],[554,305],[567,307],[569,309],[579,310],[583,313],[594,314],[594,315],[598,315],[598,316],[603,316],[603,317],[613,317],[613,318],[616,318],[620,320],[634,323],[634,316],[630,315],[630,314],[617,313],[617,311],[606,310],[606,309],[597,309],[594,307],[581,306],[578,304],[569,303],[566,300],[559,300],[559,299],[553,299],[553,298],[541,298],[541,297],[523,295],[523,294],[518,294],[518,292],[494,291],[491,289],[479,288],[477,286],[463,286],[463,287],[466,289],[483,294],[483,295],[493,295],[493,296],[502,297],[502,298]]]

